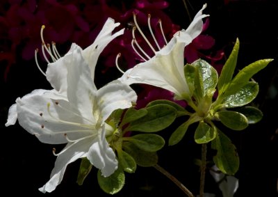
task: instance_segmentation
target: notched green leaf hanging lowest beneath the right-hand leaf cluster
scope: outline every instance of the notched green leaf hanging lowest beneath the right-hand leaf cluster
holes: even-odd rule
[[[234,175],[239,168],[239,157],[231,140],[218,130],[215,140],[211,141],[211,148],[217,150],[213,161],[220,171],[227,175]]]

